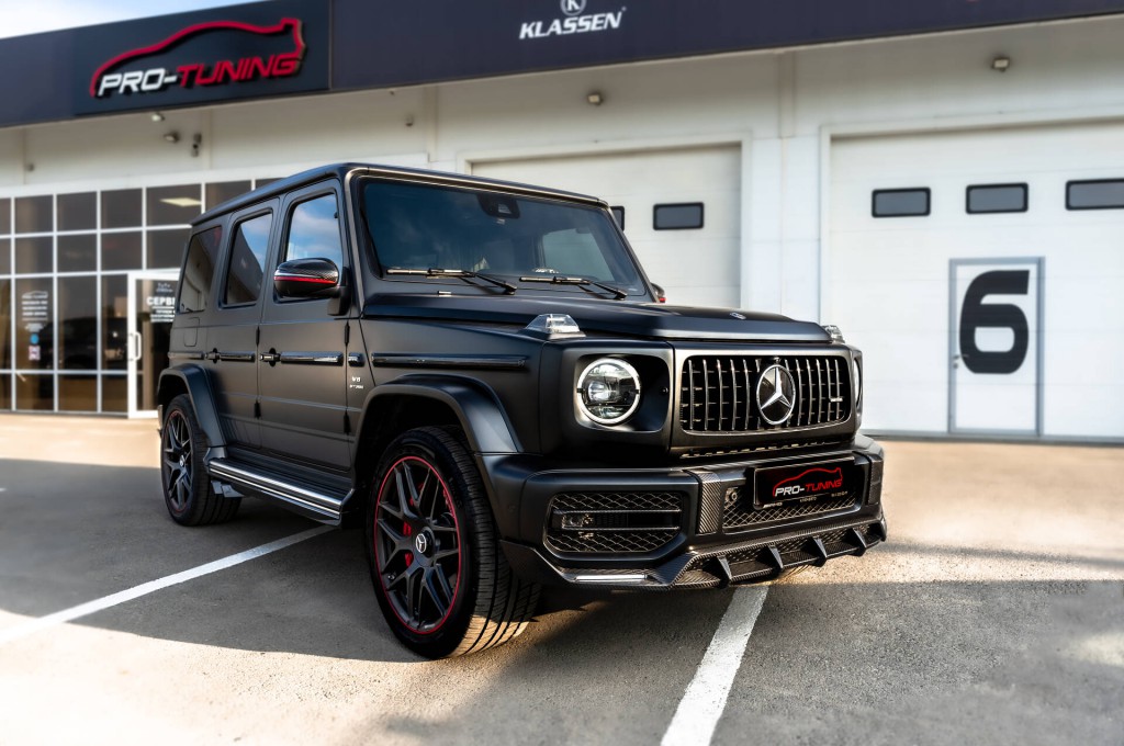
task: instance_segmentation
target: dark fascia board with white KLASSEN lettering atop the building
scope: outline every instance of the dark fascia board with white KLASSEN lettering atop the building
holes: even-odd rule
[[[336,0],[333,89],[930,34],[1124,0]]]

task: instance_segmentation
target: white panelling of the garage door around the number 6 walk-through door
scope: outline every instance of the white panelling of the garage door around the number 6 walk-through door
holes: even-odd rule
[[[836,140],[824,317],[865,354],[865,426],[948,430],[950,261],[1042,257],[1042,435],[1124,437],[1124,210],[1066,209],[1067,181],[1118,178],[1120,124]],[[1000,183],[1027,184],[1026,212],[966,211]],[[900,188],[932,190],[931,215],[873,218],[872,191]]]

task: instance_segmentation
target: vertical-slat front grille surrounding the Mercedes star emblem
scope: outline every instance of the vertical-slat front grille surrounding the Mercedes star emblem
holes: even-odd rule
[[[755,402],[761,372],[774,362],[796,382],[796,406],[782,425],[762,419]],[[679,425],[687,433],[756,433],[818,427],[851,416],[851,366],[840,355],[695,355],[683,362]]]

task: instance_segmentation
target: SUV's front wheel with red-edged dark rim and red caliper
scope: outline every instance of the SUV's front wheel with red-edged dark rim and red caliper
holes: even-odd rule
[[[475,653],[527,626],[540,586],[508,566],[459,428],[418,428],[390,444],[365,526],[379,607],[414,652],[428,658]]]

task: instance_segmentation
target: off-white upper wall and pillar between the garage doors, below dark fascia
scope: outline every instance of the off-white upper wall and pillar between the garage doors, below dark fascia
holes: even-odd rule
[[[0,130],[0,193],[356,158],[453,170],[468,155],[744,134],[743,306],[815,318],[825,128],[1124,112],[1121,38],[1124,18],[1094,19],[40,125]],[[1000,53],[1003,74],[989,64]],[[602,106],[586,102],[592,90]]]

